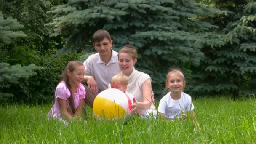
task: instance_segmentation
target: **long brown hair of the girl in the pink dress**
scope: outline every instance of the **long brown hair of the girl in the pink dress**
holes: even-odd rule
[[[67,88],[70,91],[70,97],[68,98],[68,101],[69,101],[69,106],[70,106],[71,112],[73,114],[75,114],[76,110],[75,110],[74,98],[73,98],[72,92],[70,90],[71,85],[69,83],[69,76],[67,75],[67,70],[69,70],[70,72],[74,72],[74,70],[79,66],[83,66],[83,64],[80,61],[69,61],[69,63],[65,67],[65,70],[63,71],[63,78],[62,78],[62,80],[66,83]]]

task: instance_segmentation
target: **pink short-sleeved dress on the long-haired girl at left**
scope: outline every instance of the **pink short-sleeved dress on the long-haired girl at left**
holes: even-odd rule
[[[73,94],[73,99],[75,103],[75,108],[78,107],[80,99],[85,99],[85,87],[80,83],[77,85],[77,93],[72,93]],[[67,100],[67,108],[69,107],[69,101],[68,98],[70,97],[70,91],[66,86],[66,83],[64,81],[61,81],[59,85],[57,85],[56,90],[55,90],[55,102],[53,107],[51,108],[50,112],[47,115],[47,119],[49,120],[51,117],[54,118],[61,118],[61,110],[59,107],[59,102],[57,98],[61,98],[64,100]],[[68,109],[69,114],[72,114],[70,109]]]

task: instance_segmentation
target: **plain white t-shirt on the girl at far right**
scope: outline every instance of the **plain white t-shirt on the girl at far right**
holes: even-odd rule
[[[171,98],[171,92],[167,93],[159,102],[158,112],[165,114],[165,118],[173,120],[179,118],[181,114],[186,114],[186,111],[194,110],[191,96],[182,92],[179,100]]]

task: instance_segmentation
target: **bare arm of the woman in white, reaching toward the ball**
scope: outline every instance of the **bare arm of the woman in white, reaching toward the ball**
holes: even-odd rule
[[[134,107],[138,109],[149,109],[151,102],[151,95],[152,95],[152,87],[151,87],[151,80],[147,79],[141,86],[143,102],[136,102],[134,103]]]

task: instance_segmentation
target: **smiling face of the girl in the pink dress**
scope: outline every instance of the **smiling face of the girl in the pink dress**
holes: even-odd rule
[[[83,65],[77,66],[73,72],[67,70],[70,85],[79,85],[83,80],[84,73],[85,67]]]

